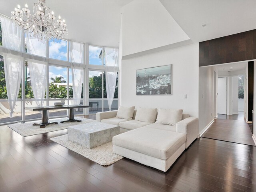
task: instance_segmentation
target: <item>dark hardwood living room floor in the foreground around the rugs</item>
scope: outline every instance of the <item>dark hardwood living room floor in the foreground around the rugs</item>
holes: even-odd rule
[[[93,118],[93,117],[91,117]],[[256,147],[197,139],[166,172],[127,158],[100,166],[51,141],[0,126],[0,192],[255,192]]]

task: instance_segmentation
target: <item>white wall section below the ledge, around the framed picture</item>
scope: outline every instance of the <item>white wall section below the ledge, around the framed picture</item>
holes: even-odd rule
[[[169,64],[172,64],[172,95],[136,95],[137,69]],[[183,108],[184,113],[198,117],[198,44],[123,60],[121,72],[121,105]]]

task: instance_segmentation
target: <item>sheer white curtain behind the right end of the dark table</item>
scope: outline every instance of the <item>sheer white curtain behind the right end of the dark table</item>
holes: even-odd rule
[[[84,45],[70,41],[70,61],[72,69],[73,98],[74,104],[79,105],[82,94]]]

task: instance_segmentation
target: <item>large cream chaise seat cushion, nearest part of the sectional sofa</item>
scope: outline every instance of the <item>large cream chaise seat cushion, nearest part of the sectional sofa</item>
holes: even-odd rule
[[[116,146],[166,160],[186,142],[186,134],[142,127],[116,135],[112,142]]]

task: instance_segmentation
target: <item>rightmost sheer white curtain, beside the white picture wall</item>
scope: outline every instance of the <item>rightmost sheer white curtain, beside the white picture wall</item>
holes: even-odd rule
[[[108,107],[111,111],[116,89],[116,76],[118,72],[118,48],[104,48],[106,61],[106,90]]]

